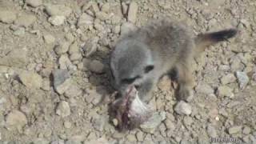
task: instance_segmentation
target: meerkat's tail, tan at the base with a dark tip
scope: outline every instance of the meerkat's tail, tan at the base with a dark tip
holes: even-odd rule
[[[195,38],[196,51],[202,52],[207,46],[233,38],[238,33],[236,29],[221,30],[208,34],[198,34]],[[196,53],[198,54],[198,53]]]

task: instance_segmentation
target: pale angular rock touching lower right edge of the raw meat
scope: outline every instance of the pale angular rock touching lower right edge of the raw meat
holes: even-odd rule
[[[155,112],[152,116],[140,125],[142,131],[154,134],[154,130],[166,119],[166,112]]]

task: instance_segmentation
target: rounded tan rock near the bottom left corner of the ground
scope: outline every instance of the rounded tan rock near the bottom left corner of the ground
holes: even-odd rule
[[[6,116],[6,125],[8,127],[22,127],[27,124],[26,115],[19,110],[12,110]]]

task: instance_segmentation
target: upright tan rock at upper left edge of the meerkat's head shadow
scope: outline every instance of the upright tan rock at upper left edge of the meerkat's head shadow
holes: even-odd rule
[[[98,38],[92,38],[88,40],[84,46],[82,46],[82,50],[84,51],[87,58],[96,52],[97,43],[98,43]]]

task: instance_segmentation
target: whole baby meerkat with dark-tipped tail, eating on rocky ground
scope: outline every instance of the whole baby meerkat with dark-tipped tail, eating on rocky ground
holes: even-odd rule
[[[207,46],[234,37],[237,30],[194,35],[187,26],[168,18],[150,22],[120,39],[110,57],[114,85],[123,96],[135,86],[143,101],[159,78],[175,70],[178,98],[188,100],[193,95],[191,62]]]

